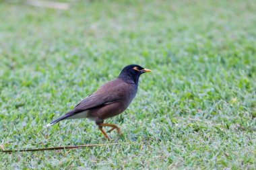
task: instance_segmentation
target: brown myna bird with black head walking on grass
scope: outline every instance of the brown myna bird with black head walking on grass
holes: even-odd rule
[[[117,116],[128,108],[137,93],[140,75],[149,72],[152,71],[139,65],[127,65],[116,79],[102,85],[94,93],[75,105],[73,110],[53,120],[46,127],[61,120],[89,118],[95,121],[107,140],[109,140],[109,137],[103,130],[104,126],[111,127],[107,133],[117,129],[117,134],[121,134],[119,126],[106,124],[104,120]]]

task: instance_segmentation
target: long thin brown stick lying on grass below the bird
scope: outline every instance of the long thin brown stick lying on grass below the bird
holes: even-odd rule
[[[54,148],[34,148],[34,149],[22,149],[22,150],[5,150],[0,151],[1,153],[13,153],[13,152],[34,152],[34,151],[49,151],[49,150],[61,150],[69,148],[84,148],[84,147],[94,147],[94,146],[106,146],[106,145],[117,145],[117,144],[129,144],[129,142],[124,143],[107,143],[107,144],[86,144],[77,146],[60,146]]]

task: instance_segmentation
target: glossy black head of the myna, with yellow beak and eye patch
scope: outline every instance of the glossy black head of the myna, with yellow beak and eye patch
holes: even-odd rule
[[[151,70],[144,69],[139,65],[127,65],[125,68],[123,68],[118,78],[123,79],[128,83],[135,83],[137,85],[139,82],[139,76],[148,72],[151,72]]]

